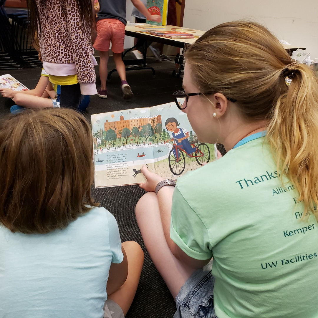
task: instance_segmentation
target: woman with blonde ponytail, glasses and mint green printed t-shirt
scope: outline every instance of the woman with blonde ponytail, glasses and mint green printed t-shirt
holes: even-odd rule
[[[227,154],[175,188],[142,168],[136,217],[175,317],[317,318],[317,79],[253,22],[212,28],[185,57],[176,104]]]

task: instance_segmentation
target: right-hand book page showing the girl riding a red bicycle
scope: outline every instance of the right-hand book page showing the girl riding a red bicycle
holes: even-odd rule
[[[153,136],[156,174],[176,180],[178,176],[198,169],[203,162],[218,158],[216,145],[197,140],[186,113],[174,102],[151,107],[150,114],[151,118],[160,120],[154,123]]]

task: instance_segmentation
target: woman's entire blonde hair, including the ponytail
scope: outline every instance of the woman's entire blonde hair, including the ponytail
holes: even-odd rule
[[[305,65],[295,67],[268,29],[247,21],[220,24],[205,32],[185,57],[200,93],[223,93],[237,100],[245,119],[269,122],[268,141],[281,180],[287,175],[299,191],[305,212],[314,213],[318,205],[318,82],[314,73]],[[289,87],[285,75],[292,77]],[[315,217],[318,220],[318,214]]]

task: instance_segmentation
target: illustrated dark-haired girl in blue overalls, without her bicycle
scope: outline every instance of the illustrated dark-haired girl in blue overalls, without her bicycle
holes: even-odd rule
[[[184,149],[184,151],[186,152],[188,157],[192,157],[190,156],[190,154],[192,154],[193,152],[197,151],[197,147],[193,147],[190,144],[189,141],[189,131],[185,128],[177,128],[177,126],[179,126],[180,124],[178,123],[178,121],[176,120],[176,118],[171,117],[168,118],[165,122],[166,128],[168,131],[172,131],[172,136],[173,138],[170,139],[169,141],[174,141],[176,142],[177,146],[180,146],[180,148]],[[174,149],[174,155],[176,157],[176,150]]]

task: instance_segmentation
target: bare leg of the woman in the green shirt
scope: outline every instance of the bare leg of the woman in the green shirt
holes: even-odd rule
[[[136,218],[147,251],[174,298],[194,273],[171,253],[163,234],[157,196],[148,192],[136,205]]]

